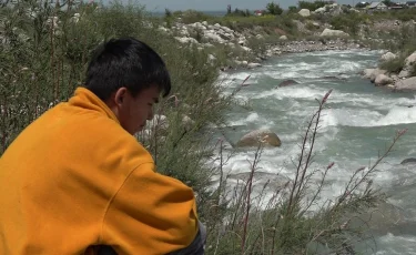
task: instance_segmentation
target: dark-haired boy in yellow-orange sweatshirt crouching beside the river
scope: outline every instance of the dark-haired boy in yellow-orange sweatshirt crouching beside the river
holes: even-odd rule
[[[193,191],[158,174],[133,136],[170,90],[145,43],[101,44],[84,88],[0,159],[0,254],[203,254]]]

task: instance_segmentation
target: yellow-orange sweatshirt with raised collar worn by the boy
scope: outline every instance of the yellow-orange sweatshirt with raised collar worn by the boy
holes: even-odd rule
[[[166,254],[199,231],[193,191],[158,174],[149,152],[92,92],[30,124],[0,159],[0,254]]]

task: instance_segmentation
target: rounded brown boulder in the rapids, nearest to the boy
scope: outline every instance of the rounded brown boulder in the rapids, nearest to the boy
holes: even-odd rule
[[[236,144],[237,147],[258,146],[260,143],[270,146],[281,146],[278,136],[270,130],[255,130],[245,134]]]

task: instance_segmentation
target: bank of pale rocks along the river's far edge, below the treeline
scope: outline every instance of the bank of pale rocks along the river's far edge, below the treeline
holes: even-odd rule
[[[223,71],[257,68],[262,61],[284,53],[366,48],[364,43],[351,39],[347,33],[327,28],[313,38],[290,40],[287,35],[281,35],[273,42],[267,42],[267,35],[264,35],[262,28],[239,32],[219,23],[209,24],[206,21],[191,24],[175,22],[170,28],[160,26],[159,31],[199,50],[226,48],[231,53],[227,55],[226,65],[222,68]],[[216,61],[217,58],[215,53],[211,53],[209,61]]]

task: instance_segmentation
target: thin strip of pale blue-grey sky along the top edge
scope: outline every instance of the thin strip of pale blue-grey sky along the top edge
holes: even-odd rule
[[[124,0],[126,1],[126,0]],[[232,9],[264,9],[268,2],[273,0],[136,0],[140,4],[145,6],[148,11],[164,11],[165,8],[176,10],[201,10],[201,11],[225,11],[226,6],[231,4]],[[312,0],[306,0],[312,1]],[[337,0],[339,4],[356,4],[361,0]],[[297,6],[297,0],[274,0],[283,9],[290,6]]]

